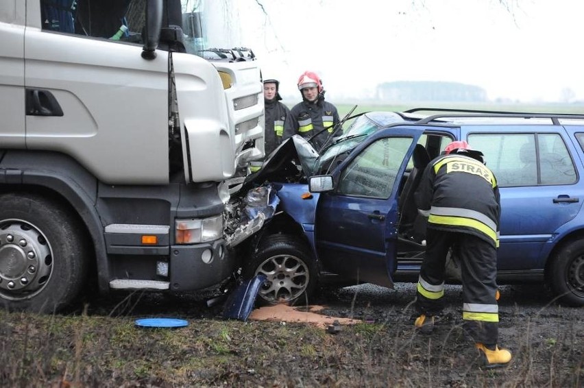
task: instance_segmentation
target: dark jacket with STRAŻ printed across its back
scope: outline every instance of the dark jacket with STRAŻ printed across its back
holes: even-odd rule
[[[428,228],[474,234],[499,246],[500,197],[494,173],[462,154],[439,156],[414,195]]]

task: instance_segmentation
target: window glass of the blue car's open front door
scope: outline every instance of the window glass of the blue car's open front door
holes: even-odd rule
[[[341,174],[338,193],[388,198],[413,139],[380,138],[350,162]]]

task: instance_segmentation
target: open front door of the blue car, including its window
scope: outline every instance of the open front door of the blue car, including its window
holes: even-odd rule
[[[398,187],[421,130],[381,130],[333,173],[334,191],[317,205],[315,232],[326,270],[393,287]]]

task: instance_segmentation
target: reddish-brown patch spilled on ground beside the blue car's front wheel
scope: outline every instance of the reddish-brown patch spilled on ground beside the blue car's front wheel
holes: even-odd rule
[[[254,321],[303,322],[317,326],[332,325],[334,321],[339,321],[339,324],[345,325],[361,322],[360,319],[330,317],[319,314],[318,312],[323,309],[324,306],[317,305],[291,307],[285,304],[275,304],[256,308],[250,314],[249,319]]]

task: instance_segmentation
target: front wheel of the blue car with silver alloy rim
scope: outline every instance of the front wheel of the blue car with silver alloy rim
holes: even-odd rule
[[[318,281],[317,265],[310,249],[291,235],[269,236],[260,243],[243,269],[247,279],[259,274],[267,278],[258,293],[260,304],[306,303]]]

